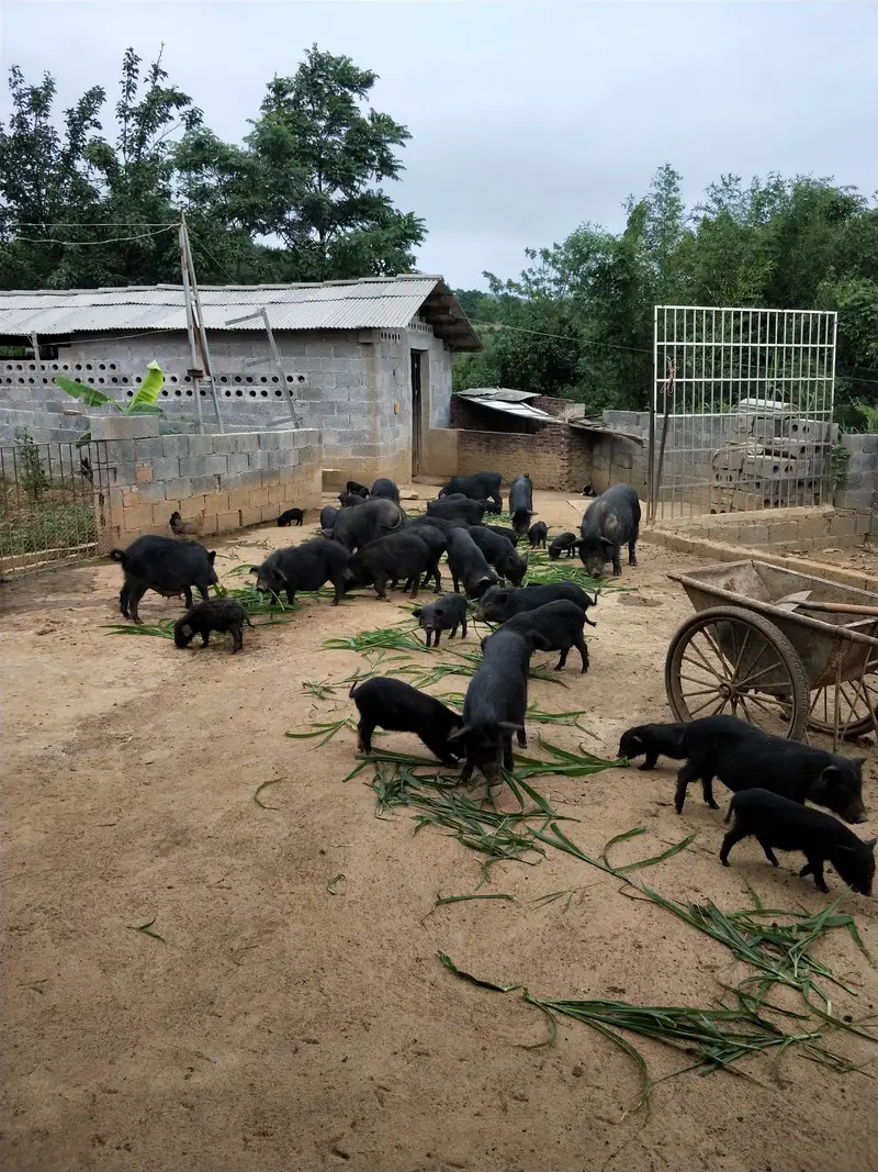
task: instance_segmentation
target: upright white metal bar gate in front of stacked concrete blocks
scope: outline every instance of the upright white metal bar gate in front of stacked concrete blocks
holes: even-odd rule
[[[829,499],[836,314],[659,305],[651,517]]]

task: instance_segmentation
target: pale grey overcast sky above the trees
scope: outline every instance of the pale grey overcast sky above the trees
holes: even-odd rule
[[[229,141],[315,41],[375,69],[373,105],[413,136],[391,195],[426,219],[419,267],[458,287],[583,220],[618,229],[665,161],[690,200],[729,171],[878,188],[874,0],[0,0],[0,20],[4,67],[52,73],[60,108],[97,82],[115,100],[124,48],[164,41]]]

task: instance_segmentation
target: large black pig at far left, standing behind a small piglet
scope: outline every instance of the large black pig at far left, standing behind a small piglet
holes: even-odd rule
[[[125,575],[119,591],[119,611],[135,622],[140,621],[140,599],[148,590],[155,590],[165,598],[183,594],[186,607],[192,606],[192,587],[201,598],[210,598],[208,587],[218,582],[213,560],[214,550],[208,553],[198,541],[178,541],[172,537],[138,537],[126,550],[111,550],[114,561],[122,563]]]

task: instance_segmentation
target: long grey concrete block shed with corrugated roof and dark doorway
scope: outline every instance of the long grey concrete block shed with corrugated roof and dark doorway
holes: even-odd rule
[[[454,352],[480,348],[441,277],[205,287],[200,297],[222,430],[289,428],[291,398],[338,478],[426,470],[430,430],[451,424]],[[0,292],[0,345],[33,335],[41,369],[0,362],[0,441],[21,428],[37,442],[75,438],[82,421],[63,414],[73,401],[54,375],[130,397],[153,359],[165,373],[163,430],[197,430],[199,406],[204,430],[220,430],[210,381],[192,374],[204,363],[193,366],[180,286]]]

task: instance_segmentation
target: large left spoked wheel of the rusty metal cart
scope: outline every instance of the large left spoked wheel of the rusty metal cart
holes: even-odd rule
[[[712,607],[682,624],[667,649],[665,689],[685,723],[725,714],[791,741],[808,724],[798,653],[773,622],[743,607]]]

